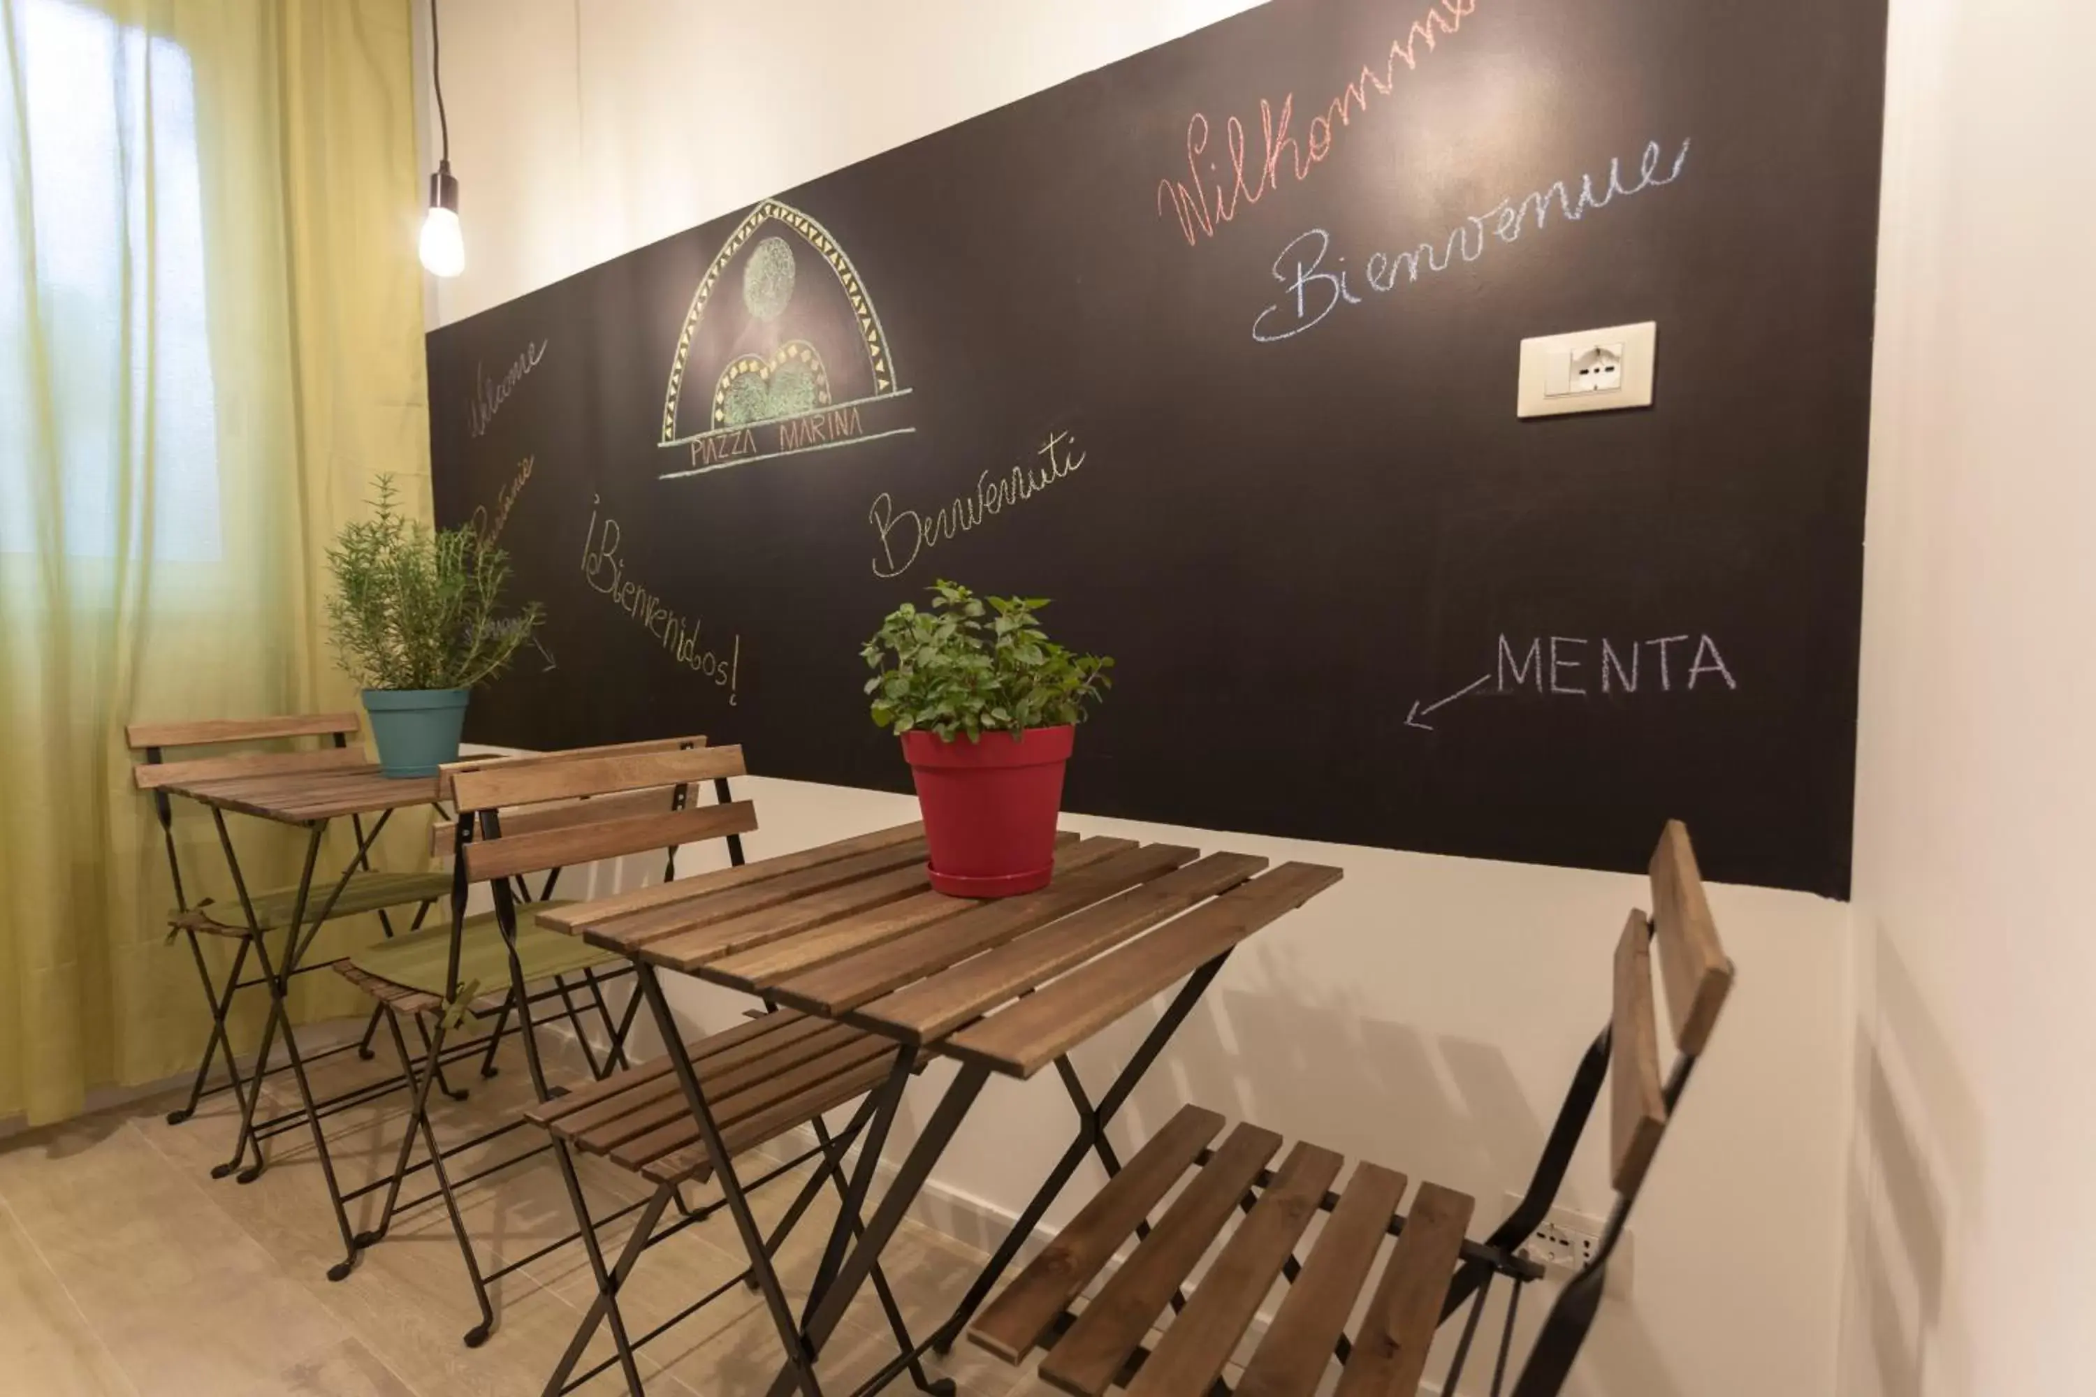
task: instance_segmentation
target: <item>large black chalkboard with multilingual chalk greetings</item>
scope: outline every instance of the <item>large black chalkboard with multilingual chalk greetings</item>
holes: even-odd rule
[[[1882,61],[1276,0],[449,325],[438,517],[547,607],[467,731],[908,790],[857,645],[952,576],[1119,660],[1067,808],[1844,896]],[[1652,408],[1515,419],[1633,320]]]

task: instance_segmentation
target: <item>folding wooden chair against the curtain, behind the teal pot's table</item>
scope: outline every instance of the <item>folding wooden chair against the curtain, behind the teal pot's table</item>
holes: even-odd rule
[[[191,959],[197,963],[197,980],[203,986],[203,1003],[212,1012],[212,1033],[203,1043],[203,1058],[197,1062],[195,1079],[189,1085],[189,1100],[176,1110],[168,1112],[168,1125],[180,1125],[189,1121],[197,1106],[208,1095],[220,1091],[233,1091],[237,1100],[245,1102],[245,1079],[241,1077],[239,1062],[233,1058],[233,1039],[226,1030],[226,1016],[233,1010],[233,997],[243,989],[264,986],[266,976],[252,976],[247,980],[241,974],[247,968],[247,957],[256,951],[256,936],[289,930],[291,917],[296,915],[298,888],[266,888],[247,894],[247,905],[254,909],[254,926],[249,926],[245,913],[241,913],[239,903],[214,903],[212,899],[199,899],[195,905],[189,901],[189,882],[182,878],[182,857],[176,848],[174,838],[174,802],[168,798],[168,785],[178,781],[212,781],[220,777],[264,777],[264,775],[308,775],[314,771],[342,771],[352,767],[369,764],[361,746],[352,746],[356,735],[356,714],[354,712],[329,712],[329,714],[287,714],[275,718],[231,718],[231,720],[199,720],[199,723],[132,723],[124,729],[124,739],[132,752],[143,752],[143,760],[132,769],[132,783],[153,794],[153,813],[159,817],[161,838],[168,846],[168,873],[174,880],[174,909],[168,913],[168,938],[187,936]],[[191,756],[182,760],[166,760],[170,748],[228,748],[235,744],[272,744],[283,739],[300,737],[327,737],[327,746],[306,748],[306,750],[243,750],[216,756]],[[218,842],[224,848],[228,867],[237,867],[233,857],[233,838],[226,831],[224,813],[212,808],[212,821],[218,827]],[[371,842],[377,838],[377,827],[369,834],[363,827],[361,817],[352,817],[352,829],[356,834],[356,867],[350,871],[333,905],[327,907],[327,919],[342,919],[361,913],[377,913],[379,926],[386,936],[394,934],[390,911],[396,907],[415,907],[413,926],[421,926],[430,907],[451,892],[451,878],[446,873],[379,873],[371,869]],[[384,817],[381,817],[384,823]],[[220,915],[231,907],[231,915]],[[233,968],[226,972],[224,982],[216,982],[212,976],[210,959],[203,953],[203,943],[199,936],[220,936],[239,943],[233,953]],[[325,970],[331,961],[314,961],[296,968],[291,974],[308,974],[312,970]],[[323,1054],[306,1058],[306,1062],[319,1062],[321,1058],[331,1058],[333,1054],[348,1051],[350,1047],[365,1060],[371,1060],[371,1035],[377,1030],[379,1016],[371,1014],[371,1022],[365,1024],[365,1035],[354,1045],[335,1047]],[[226,1081],[212,1087],[212,1058],[224,1054]],[[291,1064],[272,1068],[275,1072],[291,1070]],[[335,1095],[327,1102],[316,1102],[316,1112],[327,1114],[333,1110],[346,1110],[358,1102],[371,1100],[384,1091],[398,1087],[398,1081],[371,1083],[354,1091]],[[289,1116],[277,1116],[275,1121],[262,1121],[254,1125],[254,1135],[268,1137],[281,1129],[289,1129],[304,1118],[304,1112],[293,1112]],[[243,1139],[245,1144],[245,1139]],[[260,1150],[258,1150],[260,1154]],[[212,1171],[212,1177],[224,1177],[239,1167],[239,1156],[233,1162],[220,1165]],[[260,1169],[260,1160],[256,1165]]]

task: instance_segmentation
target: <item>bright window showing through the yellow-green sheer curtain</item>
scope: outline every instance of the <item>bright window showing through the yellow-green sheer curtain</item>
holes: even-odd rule
[[[138,555],[151,517],[153,557],[218,559],[189,57],[73,0],[13,8],[25,103],[0,111],[0,551]],[[63,528],[46,538],[52,467]]]

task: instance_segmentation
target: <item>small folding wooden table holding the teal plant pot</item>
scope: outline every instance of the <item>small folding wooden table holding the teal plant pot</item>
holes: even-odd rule
[[[342,1188],[335,1181],[335,1162],[327,1152],[327,1135],[312,1102],[312,1085],[306,1079],[306,1060],[298,1051],[298,1037],[293,1035],[289,1014],[285,1012],[285,997],[289,993],[291,976],[298,974],[306,951],[312,949],[312,940],[319,936],[327,919],[335,915],[337,907],[348,909],[354,905],[367,886],[373,888],[371,896],[386,899],[392,894],[394,888],[388,880],[396,880],[396,875],[371,871],[371,846],[386,829],[386,821],[392,819],[394,811],[413,804],[436,806],[438,777],[384,777],[375,764],[358,764],[281,775],[222,777],[216,781],[168,781],[161,790],[172,796],[187,796],[212,811],[212,823],[218,827],[218,844],[226,855],[226,869],[233,875],[233,888],[239,894],[241,915],[245,917],[247,945],[254,947],[256,957],[262,961],[262,978],[268,984],[270,995],[270,1012],[268,1020],[262,1024],[262,1045],[256,1049],[256,1066],[247,1079],[247,1091],[239,1093],[235,1087],[235,1095],[241,1097],[239,1139],[233,1146],[233,1158],[214,1167],[212,1177],[224,1177],[233,1171],[241,1171],[241,1183],[249,1183],[262,1173],[264,1156],[262,1139],[256,1127],[256,1104],[262,1100],[262,1079],[268,1072],[270,1049],[275,1047],[277,1030],[281,1028],[285,1056],[291,1060],[291,1074],[298,1081],[298,1114],[306,1116],[312,1125],[312,1146],[321,1156],[321,1173],[327,1179],[329,1200],[335,1204],[335,1225],[342,1232],[344,1248],[354,1255],[356,1248],[350,1232],[350,1217],[344,1206]],[[264,928],[264,917],[247,894],[247,880],[241,875],[241,861],[233,848],[233,836],[226,831],[226,811],[306,829],[306,857],[298,875],[298,888],[289,907],[277,909],[281,919],[275,913],[268,917],[268,928]],[[377,815],[369,829],[363,827],[365,815]],[[329,886],[323,896],[314,899],[314,873],[321,863],[321,840],[327,836],[329,823],[344,817],[348,817],[356,829],[356,855],[344,865],[342,875],[333,880],[333,886]],[[390,905],[392,903],[388,901],[371,903],[371,907]],[[279,926],[285,930],[283,961],[270,963],[264,930],[275,930]],[[228,976],[228,982],[233,980],[239,980],[237,968],[235,974]],[[231,999],[231,991],[226,993],[226,999]],[[222,1012],[218,1026],[214,1026],[214,1035],[224,1041],[224,1051],[231,1062],[233,1043],[224,1037]],[[237,1081],[239,1072],[235,1072],[235,1083]],[[241,1169],[249,1144],[254,1144],[256,1158],[254,1165]],[[340,1271],[340,1276],[335,1271]],[[335,1271],[329,1271],[329,1278],[340,1280],[342,1276],[348,1276],[348,1263],[342,1263]]]

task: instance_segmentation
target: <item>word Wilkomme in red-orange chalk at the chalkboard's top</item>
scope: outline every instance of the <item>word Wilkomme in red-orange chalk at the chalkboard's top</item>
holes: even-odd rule
[[[1364,63],[1360,77],[1346,84],[1320,115],[1310,117],[1310,124],[1304,128],[1304,140],[1295,140],[1289,134],[1289,121],[1295,117],[1295,94],[1289,92],[1281,98],[1279,121],[1274,119],[1272,103],[1262,96],[1260,138],[1266,159],[1253,157],[1256,163],[1249,170],[1249,178],[1245,170],[1245,124],[1237,117],[1226,119],[1222,124],[1222,145],[1230,161],[1228,191],[1224,191],[1218,161],[1209,157],[1211,130],[1207,115],[1201,111],[1193,113],[1186,121],[1186,176],[1193,180],[1193,189],[1180,184],[1174,176],[1157,180],[1157,216],[1165,216],[1165,201],[1170,201],[1172,212],[1178,216],[1180,237],[1186,239],[1188,247],[1197,247],[1201,237],[1216,237],[1218,224],[1235,220],[1243,205],[1258,203],[1268,191],[1279,191],[1283,170],[1291,172],[1295,182],[1302,184],[1331,155],[1337,128],[1350,128],[1354,113],[1369,109],[1369,92],[1375,90],[1379,96],[1390,96],[1398,84],[1398,63],[1404,63],[1404,71],[1415,71],[1419,67],[1419,42],[1425,40],[1432,52],[1436,29],[1453,38],[1463,27],[1463,17],[1476,8],[1478,0],[1440,0],[1427,10],[1425,19],[1415,21],[1402,38],[1390,44],[1390,57],[1383,63],[1381,75],[1377,75],[1373,65]],[[1201,174],[1203,157],[1207,157],[1205,176]],[[1214,195],[1209,193],[1209,184],[1214,184]]]

